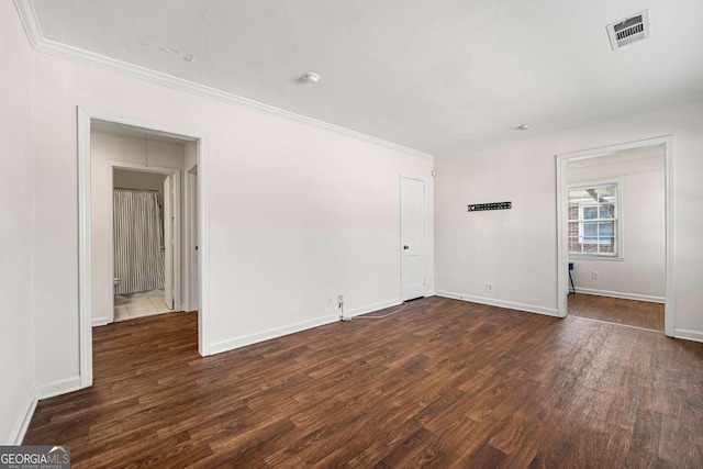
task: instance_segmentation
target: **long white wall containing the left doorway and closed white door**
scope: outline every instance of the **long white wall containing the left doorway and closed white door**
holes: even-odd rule
[[[434,244],[429,160],[54,56],[35,60],[42,383],[78,373],[77,105],[209,134],[203,255],[215,350],[334,321],[331,294],[344,294],[348,311],[399,301],[400,172],[427,178]],[[433,264],[431,252],[428,292]]]

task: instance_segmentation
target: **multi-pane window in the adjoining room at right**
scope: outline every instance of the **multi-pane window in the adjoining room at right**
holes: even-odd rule
[[[618,183],[569,186],[569,254],[617,256]]]

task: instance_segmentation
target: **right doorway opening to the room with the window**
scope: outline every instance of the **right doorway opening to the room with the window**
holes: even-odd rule
[[[559,315],[673,335],[671,137],[557,156]]]

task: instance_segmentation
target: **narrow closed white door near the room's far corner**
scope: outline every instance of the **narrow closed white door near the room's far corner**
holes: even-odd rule
[[[401,297],[425,295],[425,182],[401,178]]]

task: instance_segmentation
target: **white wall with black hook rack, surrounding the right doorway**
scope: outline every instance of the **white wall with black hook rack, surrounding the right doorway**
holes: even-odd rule
[[[555,155],[673,135],[676,334],[703,340],[703,102],[495,144],[435,161],[436,289],[557,311]],[[511,200],[506,211],[466,204]],[[486,282],[495,292],[486,292]]]

